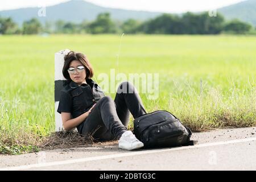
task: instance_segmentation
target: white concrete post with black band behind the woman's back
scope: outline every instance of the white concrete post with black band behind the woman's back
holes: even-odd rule
[[[63,130],[61,115],[57,113],[57,108],[60,101],[60,90],[63,88],[63,81],[65,80],[62,74],[64,56],[68,52],[69,49],[65,49],[55,53],[55,131]]]

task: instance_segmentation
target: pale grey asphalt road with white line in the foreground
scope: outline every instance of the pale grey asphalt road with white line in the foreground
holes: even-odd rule
[[[126,151],[102,143],[0,155],[0,170],[256,170],[256,127],[193,133],[195,146]]]

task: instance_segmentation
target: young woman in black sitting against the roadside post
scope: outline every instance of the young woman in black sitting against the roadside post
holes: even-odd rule
[[[73,51],[64,57],[63,76],[67,84],[61,90],[57,111],[65,130],[76,127],[80,134],[101,141],[118,139],[119,148],[125,150],[143,147],[127,130],[130,112],[134,118],[146,114],[141,97],[130,82],[122,82],[112,100],[92,80],[93,68],[87,57]]]

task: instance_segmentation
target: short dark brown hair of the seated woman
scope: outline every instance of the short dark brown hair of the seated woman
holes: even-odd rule
[[[90,64],[90,61],[88,60],[88,58],[83,53],[70,51],[64,57],[64,66],[62,69],[63,76],[67,79],[67,81],[71,81],[71,78],[68,73],[68,68],[69,68],[70,63],[73,60],[80,61],[82,63],[82,65],[85,67],[85,73],[86,73],[85,79],[93,77],[93,74],[94,74],[93,68],[92,68],[92,65]]]

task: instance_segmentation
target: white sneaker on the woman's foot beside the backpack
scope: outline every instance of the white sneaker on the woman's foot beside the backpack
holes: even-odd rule
[[[130,130],[125,131],[125,133],[122,134],[122,136],[118,140],[118,144],[119,148],[125,150],[134,150],[144,146],[144,144],[140,140],[138,140],[133,132],[131,132]]]

